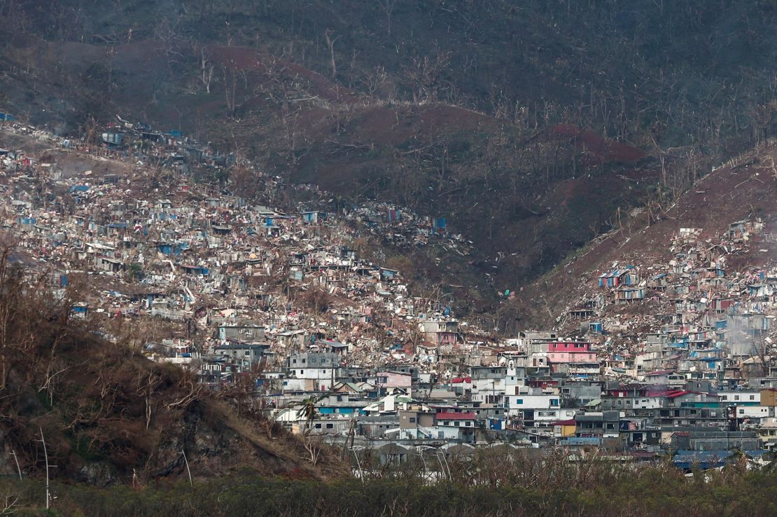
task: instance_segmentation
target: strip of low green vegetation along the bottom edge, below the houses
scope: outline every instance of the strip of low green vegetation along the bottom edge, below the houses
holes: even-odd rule
[[[767,516],[777,512],[777,475],[727,467],[720,473],[683,477],[671,467],[611,468],[587,464],[569,479],[514,484],[510,476],[475,483],[419,483],[412,477],[354,478],[315,482],[237,475],[145,487],[97,488],[54,484],[51,515],[138,517],[241,515],[708,515]],[[492,470],[499,470],[498,463]],[[537,472],[533,472],[537,475]],[[541,476],[538,476],[541,477]],[[541,477],[545,481],[545,477]],[[0,481],[0,494],[15,515],[40,510],[45,487],[30,480]]]

